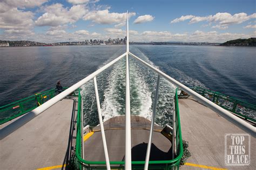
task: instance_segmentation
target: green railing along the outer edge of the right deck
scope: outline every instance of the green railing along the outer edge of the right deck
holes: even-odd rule
[[[201,96],[211,100],[213,103],[225,108],[226,110],[239,115],[240,117],[256,123],[256,105],[247,103],[245,101],[235,99],[219,92],[203,89],[201,87],[191,88],[193,91],[201,94]]]

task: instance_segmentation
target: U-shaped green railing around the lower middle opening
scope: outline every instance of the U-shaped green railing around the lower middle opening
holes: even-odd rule
[[[175,103],[175,116],[176,116],[176,144],[177,144],[177,155],[174,159],[171,160],[162,160],[162,161],[149,161],[149,169],[171,169],[176,167],[179,169],[179,164],[181,157],[183,155],[183,144],[181,137],[181,128],[180,128],[180,117],[179,117],[179,103],[178,95],[174,97]],[[87,161],[82,159],[82,125],[81,125],[81,96],[80,91],[78,94],[78,113],[77,113],[77,138],[76,138],[76,157],[78,160],[79,169],[106,169],[105,161]],[[110,161],[111,168],[113,169],[124,169],[124,161]],[[143,169],[145,161],[132,161],[132,169]]]

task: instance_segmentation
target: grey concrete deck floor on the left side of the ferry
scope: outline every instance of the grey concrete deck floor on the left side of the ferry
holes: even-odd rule
[[[73,99],[63,99],[2,139],[0,169],[37,169],[66,164],[75,145],[69,138],[76,134],[71,125],[71,120],[76,119],[75,104]]]

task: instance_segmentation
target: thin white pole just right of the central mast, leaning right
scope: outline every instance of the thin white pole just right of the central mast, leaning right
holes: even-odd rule
[[[153,129],[154,129],[154,117],[156,115],[156,110],[157,110],[159,82],[160,82],[160,76],[158,75],[157,76],[156,93],[154,94],[154,105],[153,105],[153,113],[152,113],[152,118],[151,118],[150,137],[149,137],[149,143],[147,143],[147,153],[146,153],[146,160],[145,160],[144,170],[147,170],[147,168],[149,168],[151,142],[152,142],[152,135],[153,135]]]

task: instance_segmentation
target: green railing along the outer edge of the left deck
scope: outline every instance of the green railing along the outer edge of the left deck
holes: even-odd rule
[[[63,88],[68,89],[68,87]],[[33,96],[15,101],[14,103],[0,107],[0,125],[28,113],[36,107],[56,96],[56,90],[51,89],[45,92],[36,93]]]

